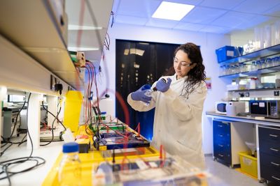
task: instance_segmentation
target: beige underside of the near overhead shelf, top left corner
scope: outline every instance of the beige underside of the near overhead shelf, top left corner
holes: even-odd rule
[[[67,84],[83,89],[53,12],[49,1],[2,1],[0,33]]]

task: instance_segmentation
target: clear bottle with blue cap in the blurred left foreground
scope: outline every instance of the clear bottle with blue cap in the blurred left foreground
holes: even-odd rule
[[[63,157],[59,164],[58,181],[61,186],[80,186],[81,164],[78,157],[78,144],[69,142],[63,145]]]

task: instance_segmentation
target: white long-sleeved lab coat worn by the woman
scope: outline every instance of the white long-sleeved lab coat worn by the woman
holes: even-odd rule
[[[167,79],[167,77],[163,77]],[[165,93],[153,92],[151,104],[134,101],[131,94],[127,102],[137,111],[148,111],[155,107],[152,144],[160,148],[162,144],[171,155],[179,155],[184,160],[200,169],[205,168],[204,153],[202,151],[202,110],[207,95],[204,82],[185,98],[181,95],[186,77],[172,79],[170,88]],[[152,88],[155,86],[153,84]]]

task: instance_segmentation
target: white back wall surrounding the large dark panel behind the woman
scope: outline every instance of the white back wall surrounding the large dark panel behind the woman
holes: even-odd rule
[[[111,45],[109,51],[104,51],[105,59],[100,63],[102,72],[99,73],[99,93],[102,93],[106,87],[111,89],[113,92],[109,92],[109,95],[114,103],[116,99],[114,95],[116,86],[116,39],[174,44],[194,42],[196,45],[200,45],[207,77],[211,77],[212,83],[212,88],[208,91],[207,99],[204,102],[204,114],[202,118],[204,131],[203,148],[204,153],[212,153],[212,125],[209,119],[206,118],[205,111],[214,111],[214,102],[221,100],[225,95],[225,84],[228,80],[218,78],[219,66],[216,60],[215,49],[223,47],[224,45],[230,45],[230,36],[191,31],[174,31],[171,29],[152,27],[148,28],[127,24],[114,24],[113,28],[109,28],[108,33],[111,39]]]

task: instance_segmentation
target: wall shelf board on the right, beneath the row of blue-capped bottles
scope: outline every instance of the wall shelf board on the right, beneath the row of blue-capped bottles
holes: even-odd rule
[[[280,71],[280,65],[277,65],[277,66],[273,66],[273,67],[269,67],[269,68],[251,70],[251,71],[236,73],[236,74],[232,74],[232,75],[221,75],[219,77],[230,77],[230,78],[251,77],[251,76],[257,76],[260,74],[268,74],[268,73],[279,72],[279,71]]]

